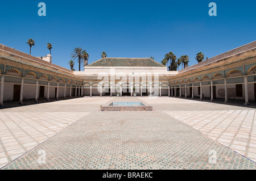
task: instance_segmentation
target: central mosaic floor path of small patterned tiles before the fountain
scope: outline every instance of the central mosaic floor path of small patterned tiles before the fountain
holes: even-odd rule
[[[39,163],[39,151],[46,163]],[[210,163],[216,151],[216,163]],[[93,112],[3,169],[255,169],[166,113]]]

